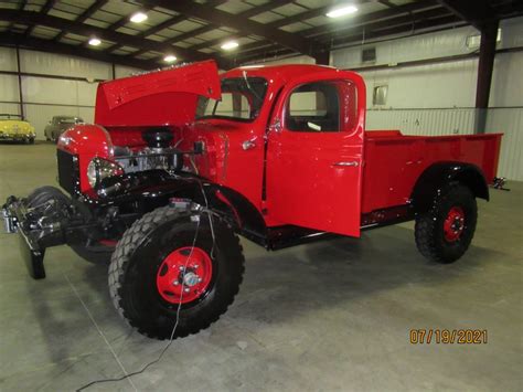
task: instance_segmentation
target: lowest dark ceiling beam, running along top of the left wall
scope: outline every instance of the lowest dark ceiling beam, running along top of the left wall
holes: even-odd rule
[[[25,36],[17,33],[0,33],[0,46],[19,46],[30,49],[33,51],[60,53],[71,56],[78,56],[89,60],[97,60],[106,63],[114,63],[118,65],[132,66],[140,70],[153,70],[160,64],[154,61],[143,61],[136,59],[128,59],[115,54],[105,53],[78,46],[73,46],[65,43],[53,42],[51,40],[38,39],[34,36]]]

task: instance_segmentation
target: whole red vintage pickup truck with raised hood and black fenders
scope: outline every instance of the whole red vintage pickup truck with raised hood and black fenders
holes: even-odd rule
[[[158,339],[198,332],[232,304],[238,235],[278,250],[415,220],[419,252],[455,262],[476,198],[489,199],[501,135],[365,131],[365,106],[361,76],[317,65],[218,75],[207,61],[100,83],[95,124],[57,144],[68,194],[9,198],[7,230],[34,278],[50,246],[110,258],[115,307]]]

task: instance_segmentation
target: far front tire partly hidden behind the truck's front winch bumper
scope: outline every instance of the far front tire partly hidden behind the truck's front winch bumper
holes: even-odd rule
[[[60,208],[66,209],[71,205],[71,199],[67,198],[64,192],[55,187],[46,186],[36,188],[33,192],[31,192],[31,194],[28,197],[28,206],[34,208],[52,199],[58,202]],[[110,256],[113,254],[111,247],[104,246],[102,244],[97,244],[97,252],[89,250],[87,246],[87,239],[78,244],[70,244],[70,247],[79,257],[92,264],[109,264]]]

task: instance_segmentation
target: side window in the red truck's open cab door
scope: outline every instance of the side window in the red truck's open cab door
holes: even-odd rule
[[[345,82],[314,82],[301,85],[290,94],[285,123],[296,131],[339,131],[342,129],[340,84]]]

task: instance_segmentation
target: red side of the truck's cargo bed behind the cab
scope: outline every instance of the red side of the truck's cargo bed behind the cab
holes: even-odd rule
[[[479,167],[492,182],[502,134],[405,136],[399,130],[365,133],[362,213],[403,205],[429,166],[460,161]]]

